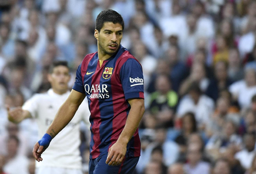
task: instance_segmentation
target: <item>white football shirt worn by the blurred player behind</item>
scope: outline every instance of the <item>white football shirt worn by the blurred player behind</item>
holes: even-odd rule
[[[59,95],[50,89],[43,94],[33,95],[22,109],[28,110],[31,116],[37,120],[39,128],[39,139],[44,135],[48,127],[51,125],[57,111],[66,101],[69,91]],[[84,100],[79,106],[74,118],[68,125],[52,139],[50,146],[43,152],[43,160],[36,162],[38,173],[43,173],[43,169],[64,168],[74,169],[74,173],[82,172],[82,157],[80,156],[80,121],[89,123],[89,108],[87,100]],[[41,171],[42,170],[42,171]],[[40,172],[39,172],[40,171]]]

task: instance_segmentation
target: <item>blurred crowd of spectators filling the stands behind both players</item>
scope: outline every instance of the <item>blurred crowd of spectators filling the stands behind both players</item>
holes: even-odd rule
[[[0,1],[0,173],[14,167],[34,173],[38,140],[36,123],[8,122],[5,105],[22,106],[47,91],[54,60],[68,61],[72,88],[78,65],[97,51],[95,20],[103,9],[122,15],[121,44],[143,67],[146,111],[136,173],[256,173],[252,0]]]

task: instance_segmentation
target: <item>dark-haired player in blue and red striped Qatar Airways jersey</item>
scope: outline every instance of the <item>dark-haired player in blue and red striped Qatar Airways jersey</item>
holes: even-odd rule
[[[71,94],[61,106],[43,138],[34,145],[41,154],[73,118],[87,96],[91,141],[89,173],[132,173],[140,156],[139,121],[144,114],[142,66],[120,43],[124,22],[114,10],[97,16],[98,52],[85,56],[76,72]]]

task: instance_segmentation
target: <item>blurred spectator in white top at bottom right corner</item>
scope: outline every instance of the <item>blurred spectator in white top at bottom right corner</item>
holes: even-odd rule
[[[243,144],[245,147],[238,153],[236,153],[235,158],[238,159],[243,168],[246,170],[252,166],[252,160],[255,156],[255,137],[254,134],[245,134],[243,136]]]

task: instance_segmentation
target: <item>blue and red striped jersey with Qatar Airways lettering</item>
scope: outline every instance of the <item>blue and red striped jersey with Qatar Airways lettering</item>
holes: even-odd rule
[[[118,52],[104,60],[101,67],[98,53],[85,56],[76,72],[73,89],[85,93],[90,109],[90,159],[118,140],[124,129],[131,106],[130,98],[144,98],[142,66],[126,48],[120,45]],[[127,144],[126,157],[141,153],[138,130]]]

